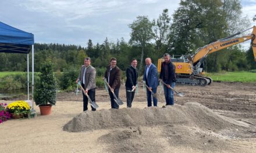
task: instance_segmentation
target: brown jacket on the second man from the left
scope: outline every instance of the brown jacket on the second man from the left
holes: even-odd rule
[[[112,68],[111,71],[110,71],[110,68],[111,68],[111,65],[108,65],[108,67],[106,67],[106,72],[105,72],[104,77],[108,81],[108,75],[110,74],[109,75],[109,85],[113,89],[119,89],[120,85],[121,85],[121,70],[119,69],[118,66]]]

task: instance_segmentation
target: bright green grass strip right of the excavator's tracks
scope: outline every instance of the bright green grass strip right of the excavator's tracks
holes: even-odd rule
[[[220,82],[245,82],[253,83],[256,82],[255,72],[219,72],[219,73],[207,73],[208,77],[211,77],[214,81]]]

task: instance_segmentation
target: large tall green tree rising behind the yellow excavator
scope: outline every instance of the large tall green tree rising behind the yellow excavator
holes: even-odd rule
[[[245,27],[246,19],[240,14],[241,5],[238,0],[181,1],[173,14],[169,49],[174,54],[193,54],[197,48],[224,38],[234,30],[237,32],[237,27]],[[224,53],[215,52],[207,57],[208,71],[221,70],[223,55],[229,54],[225,50],[222,50]]]

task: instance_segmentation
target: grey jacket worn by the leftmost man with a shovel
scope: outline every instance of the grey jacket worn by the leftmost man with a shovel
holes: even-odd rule
[[[81,66],[81,71],[80,71],[78,79],[81,81],[81,83],[84,84],[85,89],[88,89],[88,90],[94,89],[94,88],[96,88],[96,83],[95,83],[96,70],[92,65],[88,66],[86,68],[86,78],[85,78],[86,82],[83,82],[83,77],[84,77],[83,75],[84,75],[85,67],[86,67],[85,65]]]

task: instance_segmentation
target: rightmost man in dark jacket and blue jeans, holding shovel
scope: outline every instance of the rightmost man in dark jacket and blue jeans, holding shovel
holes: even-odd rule
[[[170,61],[170,55],[168,53],[163,54],[165,61],[161,65],[160,79],[162,79],[163,90],[165,92],[166,105],[173,105],[173,88],[176,82],[175,65]],[[172,89],[170,89],[172,87]]]

